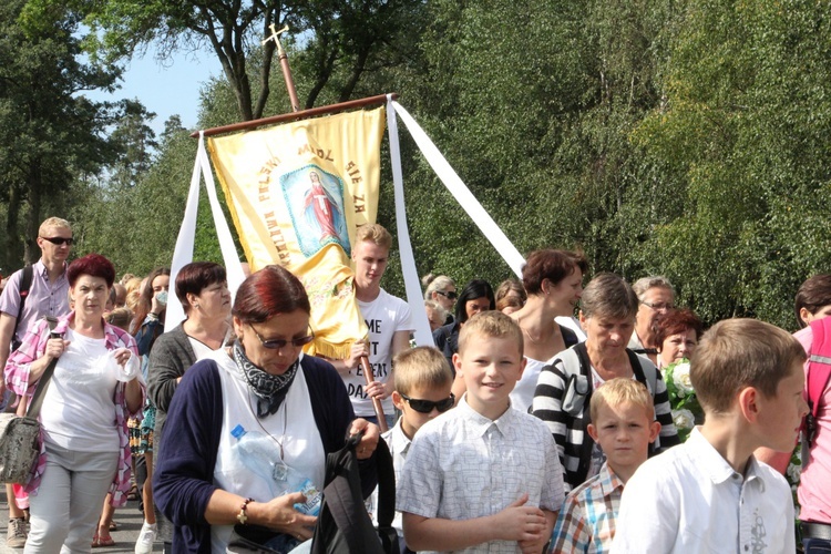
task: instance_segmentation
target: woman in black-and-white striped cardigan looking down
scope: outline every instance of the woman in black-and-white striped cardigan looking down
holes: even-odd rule
[[[599,445],[584,430],[592,391],[609,379],[624,377],[646,384],[661,424],[656,450],[680,442],[660,373],[649,360],[626,348],[638,309],[632,287],[616,275],[601,274],[583,291],[581,307],[587,339],[542,369],[532,404],[534,416],[554,435],[566,486],[572,489],[596,475],[605,461]]]

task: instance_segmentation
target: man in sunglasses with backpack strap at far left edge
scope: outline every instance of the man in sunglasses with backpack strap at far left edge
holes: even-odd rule
[[[0,295],[0,368],[6,367],[9,353],[20,346],[29,326],[43,316],[69,314],[69,280],[66,258],[72,249],[72,228],[59,217],[44,220],[38,230],[41,258],[16,271]],[[0,379],[0,398],[6,399],[6,382]],[[6,399],[14,406],[14,399]],[[27,532],[23,511],[14,503],[12,485],[6,485],[9,499],[9,530],[6,542],[11,548],[25,545]]]

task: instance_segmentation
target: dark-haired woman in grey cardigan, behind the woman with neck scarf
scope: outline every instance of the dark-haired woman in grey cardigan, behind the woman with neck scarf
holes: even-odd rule
[[[155,456],[164,445],[167,409],[185,371],[196,361],[222,350],[233,335],[230,291],[223,266],[213,261],[187,264],[176,275],[175,289],[186,319],[156,339],[147,366],[147,397],[156,407],[153,431]],[[155,538],[168,543],[170,548],[173,529],[158,514],[156,521],[158,529]],[[138,550],[151,552],[152,546],[152,541],[142,541]]]

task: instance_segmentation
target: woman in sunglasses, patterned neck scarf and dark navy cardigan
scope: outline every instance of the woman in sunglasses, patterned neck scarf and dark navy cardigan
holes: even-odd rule
[[[304,496],[293,475],[322,490],[326,454],[341,449],[347,433],[363,432],[357,454],[365,496],[372,492],[378,428],[353,419],[329,362],[302,356],[314,339],[309,312],[299,279],[265,267],[237,291],[234,345],[197,361],[178,383],[153,481],[156,502],[175,525],[173,552],[224,553],[234,533],[252,540],[256,533],[279,552],[310,538],[316,517],[295,509]],[[267,451],[242,455],[238,444],[248,433]],[[260,475],[252,464],[271,471]]]

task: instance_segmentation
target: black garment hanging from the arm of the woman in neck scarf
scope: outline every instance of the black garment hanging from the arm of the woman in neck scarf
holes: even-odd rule
[[[378,441],[378,529],[372,526],[361,493],[355,449],[361,435],[350,437],[346,447],[326,459],[324,502],[320,506],[311,554],[400,554],[396,515],[396,472],[383,439]]]

